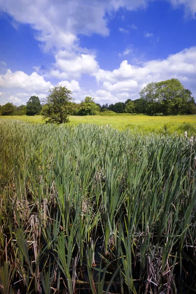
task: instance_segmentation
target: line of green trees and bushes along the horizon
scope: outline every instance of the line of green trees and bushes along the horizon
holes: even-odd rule
[[[140,98],[125,102],[100,105],[92,97],[81,103],[74,103],[72,92],[66,87],[56,86],[49,90],[49,96],[41,104],[36,96],[29,98],[25,105],[15,106],[8,102],[0,106],[0,115],[50,116],[51,120],[66,122],[68,115],[112,115],[113,113],[137,113],[147,115],[185,115],[196,114],[196,102],[190,90],[185,89],[178,79],[147,84],[140,92]],[[53,109],[53,110],[52,110]],[[59,118],[59,113],[64,113]],[[65,119],[66,117],[66,119]]]

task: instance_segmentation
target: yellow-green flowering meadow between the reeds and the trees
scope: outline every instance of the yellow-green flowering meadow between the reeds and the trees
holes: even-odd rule
[[[7,116],[1,118],[12,118],[30,123],[43,123],[41,116]],[[196,134],[196,115],[190,116],[146,116],[146,115],[119,115],[119,116],[70,116],[69,124],[96,123],[111,125],[119,130],[130,129],[136,132],[178,132],[183,134],[188,131],[192,136]]]

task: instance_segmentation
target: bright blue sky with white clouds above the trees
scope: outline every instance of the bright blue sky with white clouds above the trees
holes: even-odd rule
[[[111,104],[171,78],[196,99],[196,0],[0,0],[0,105],[58,84]]]

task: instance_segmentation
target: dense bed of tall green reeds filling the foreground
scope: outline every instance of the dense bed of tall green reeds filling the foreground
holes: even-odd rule
[[[0,292],[196,293],[196,141],[0,120]]]

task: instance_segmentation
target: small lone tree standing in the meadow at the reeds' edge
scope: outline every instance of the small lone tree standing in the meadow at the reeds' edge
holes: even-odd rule
[[[45,105],[41,114],[46,123],[67,123],[68,115],[72,113],[72,92],[66,87],[56,86],[49,89],[49,96],[45,99]]]

